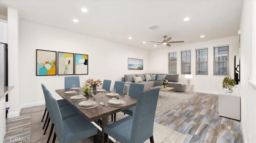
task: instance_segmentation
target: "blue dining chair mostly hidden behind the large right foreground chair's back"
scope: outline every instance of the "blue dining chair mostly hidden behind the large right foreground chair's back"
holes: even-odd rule
[[[128,95],[138,98],[139,93],[142,91],[144,91],[144,84],[131,83]],[[135,108],[136,108],[136,106],[133,106],[131,108],[123,110],[122,112],[124,112],[125,114],[128,114],[130,116],[134,116]]]

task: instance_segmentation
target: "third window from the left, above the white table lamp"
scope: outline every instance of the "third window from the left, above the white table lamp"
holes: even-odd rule
[[[196,49],[196,74],[208,75],[208,49]]]

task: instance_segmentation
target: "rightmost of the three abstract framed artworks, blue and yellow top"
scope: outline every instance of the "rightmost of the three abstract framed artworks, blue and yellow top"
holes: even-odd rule
[[[75,74],[88,74],[88,55],[75,54]]]

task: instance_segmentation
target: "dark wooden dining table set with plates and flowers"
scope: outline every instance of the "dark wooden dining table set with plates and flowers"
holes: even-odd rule
[[[92,100],[95,101],[98,106],[94,107],[94,108],[90,108],[90,109],[82,109],[80,108],[80,106],[78,105],[80,102],[84,101],[84,99],[81,99],[79,101],[74,101],[72,99],[70,99],[71,96],[76,96],[74,94],[72,95],[67,95],[64,94],[64,92],[66,91],[70,91],[70,89],[56,89],[55,92],[60,95],[64,100],[66,100],[72,107],[74,107],[80,115],[82,115],[86,120],[92,122],[92,121],[98,121],[98,119],[102,119],[102,135],[104,137],[104,127],[106,125],[108,125],[109,121],[108,121],[108,116],[126,110],[128,108],[131,108],[133,106],[136,106],[137,103],[137,98],[134,98],[132,96],[128,96],[125,94],[119,94],[118,98],[119,100],[123,100],[126,104],[124,104],[124,106],[110,106],[110,104],[108,105],[108,101],[109,100],[114,100],[114,98],[111,98],[109,96],[106,96],[106,94],[111,93],[111,91],[106,90],[104,93],[104,95],[100,96],[100,94],[97,94],[96,96],[89,96],[88,94],[84,93],[83,91],[77,91],[78,93],[76,95],[82,95],[85,96],[86,100]],[[117,99],[117,98],[115,98]],[[104,103],[105,105],[108,106],[102,106],[102,104],[100,103]]]

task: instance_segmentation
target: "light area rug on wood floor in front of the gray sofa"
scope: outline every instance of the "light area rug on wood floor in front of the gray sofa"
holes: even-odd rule
[[[156,106],[156,117],[161,116],[168,110],[175,108],[180,105],[182,102],[188,100],[192,97],[196,92],[160,92],[158,97],[158,102]]]

